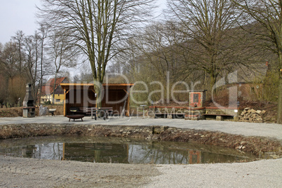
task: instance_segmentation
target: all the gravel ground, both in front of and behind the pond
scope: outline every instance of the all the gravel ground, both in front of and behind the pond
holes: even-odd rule
[[[1,118],[10,123],[78,123],[173,126],[217,130],[282,140],[282,126],[271,123],[184,121],[183,119],[109,119],[68,122],[63,116]],[[0,156],[0,187],[282,187],[282,159],[250,163],[134,165],[81,163]]]

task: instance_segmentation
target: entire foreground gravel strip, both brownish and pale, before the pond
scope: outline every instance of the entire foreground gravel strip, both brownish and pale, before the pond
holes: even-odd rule
[[[134,165],[0,156],[0,187],[282,187],[282,159]]]

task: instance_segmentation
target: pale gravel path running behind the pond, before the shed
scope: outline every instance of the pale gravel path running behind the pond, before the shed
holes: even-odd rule
[[[220,131],[223,133],[275,137],[282,140],[282,125],[276,123],[246,123],[233,121],[191,121],[184,119],[142,119],[137,117],[112,117],[104,121],[95,121],[86,116],[83,121],[70,121],[64,116],[36,116],[35,118],[0,118],[0,125],[18,123],[64,123],[64,124],[100,124],[113,126],[170,126],[197,130]]]

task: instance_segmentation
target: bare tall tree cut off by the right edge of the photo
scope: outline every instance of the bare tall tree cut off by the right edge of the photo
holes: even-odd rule
[[[264,47],[278,55],[279,93],[277,123],[282,123],[282,1],[255,0],[234,1],[246,13],[245,24],[260,25],[266,32],[255,34],[264,40]],[[260,44],[261,45],[261,44]]]

